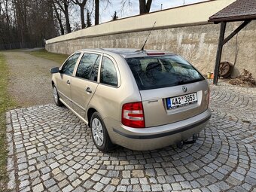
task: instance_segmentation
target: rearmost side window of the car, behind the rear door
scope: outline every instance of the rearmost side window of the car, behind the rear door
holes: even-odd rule
[[[102,84],[109,84],[117,87],[117,71],[114,67],[114,63],[108,57],[103,56],[102,69],[100,72],[100,82]]]

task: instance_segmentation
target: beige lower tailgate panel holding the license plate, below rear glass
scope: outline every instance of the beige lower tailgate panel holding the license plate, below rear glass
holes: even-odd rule
[[[160,126],[194,117],[208,108],[206,81],[140,90],[140,94],[146,127]]]

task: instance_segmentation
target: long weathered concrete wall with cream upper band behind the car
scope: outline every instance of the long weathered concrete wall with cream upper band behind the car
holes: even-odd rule
[[[220,28],[220,25],[207,23],[207,20],[231,2],[233,0],[216,0],[104,23],[50,39],[47,41],[46,48],[50,52],[68,54],[84,48],[130,47],[140,49],[154,20],[162,20],[164,22],[158,23],[152,31],[145,49],[169,50],[178,53],[193,63],[200,72],[206,74],[213,72],[215,66]],[[182,17],[179,17],[180,15]],[[171,20],[172,17],[176,19]],[[180,18],[179,23],[177,18]],[[228,23],[226,35],[233,32],[239,24]],[[233,77],[239,75],[242,69],[248,69],[256,78],[255,43],[256,21],[253,21],[239,32],[237,40],[234,37],[224,45],[221,60],[231,63],[236,60]]]

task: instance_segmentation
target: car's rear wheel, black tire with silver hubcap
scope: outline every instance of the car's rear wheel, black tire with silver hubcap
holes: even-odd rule
[[[105,124],[98,112],[93,113],[90,119],[90,127],[94,145],[96,145],[96,148],[98,148],[99,151],[107,152],[114,148],[114,145],[108,136]]]

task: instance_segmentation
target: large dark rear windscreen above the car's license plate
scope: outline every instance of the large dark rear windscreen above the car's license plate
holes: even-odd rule
[[[145,56],[126,58],[139,90],[171,87],[204,80],[181,56]]]

